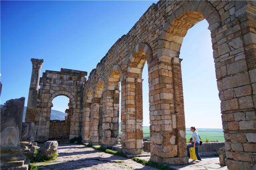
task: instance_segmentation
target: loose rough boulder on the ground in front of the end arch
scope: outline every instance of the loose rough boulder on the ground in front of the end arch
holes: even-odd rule
[[[58,142],[57,141],[44,142],[43,146],[41,146],[38,149],[39,155],[50,156],[54,153],[58,153]]]

